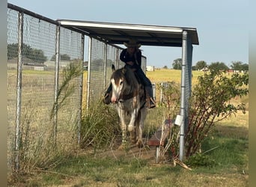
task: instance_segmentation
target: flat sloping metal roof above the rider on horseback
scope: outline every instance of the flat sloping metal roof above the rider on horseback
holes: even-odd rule
[[[196,28],[159,25],[137,25],[113,22],[88,22],[58,19],[65,28],[79,31],[111,44],[123,44],[129,38],[144,46],[182,46],[183,31],[187,31],[192,44],[199,45]]]

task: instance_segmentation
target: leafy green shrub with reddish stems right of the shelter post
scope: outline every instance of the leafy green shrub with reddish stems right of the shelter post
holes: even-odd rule
[[[190,100],[189,126],[186,129],[186,157],[200,149],[201,142],[213,126],[236,114],[246,113],[244,103],[233,104],[231,99],[242,98],[249,93],[249,75],[232,74],[231,78],[220,71],[211,71],[198,76]]]

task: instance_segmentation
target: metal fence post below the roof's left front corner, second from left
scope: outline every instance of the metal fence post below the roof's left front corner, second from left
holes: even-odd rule
[[[53,116],[53,141],[57,141],[57,123],[58,123],[58,75],[60,66],[60,32],[61,26],[56,26],[56,46],[55,46],[55,88],[54,88],[54,116]]]

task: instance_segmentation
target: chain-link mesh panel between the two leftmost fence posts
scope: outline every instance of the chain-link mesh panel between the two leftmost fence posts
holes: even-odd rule
[[[55,85],[54,69],[48,69],[44,63],[55,54],[55,30],[56,25],[24,15],[22,113],[37,114],[29,119],[35,120],[37,125],[39,122],[50,123],[49,114],[53,105]]]

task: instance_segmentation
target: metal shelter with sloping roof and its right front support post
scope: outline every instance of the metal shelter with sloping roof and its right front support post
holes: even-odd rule
[[[108,44],[123,44],[129,38],[132,38],[144,46],[182,47],[181,104],[180,114],[178,115],[181,119],[178,125],[180,125],[180,160],[182,161],[184,132],[188,125],[189,96],[192,86],[192,45],[199,45],[196,28],[67,19],[58,19],[57,21],[65,28],[78,31]]]

